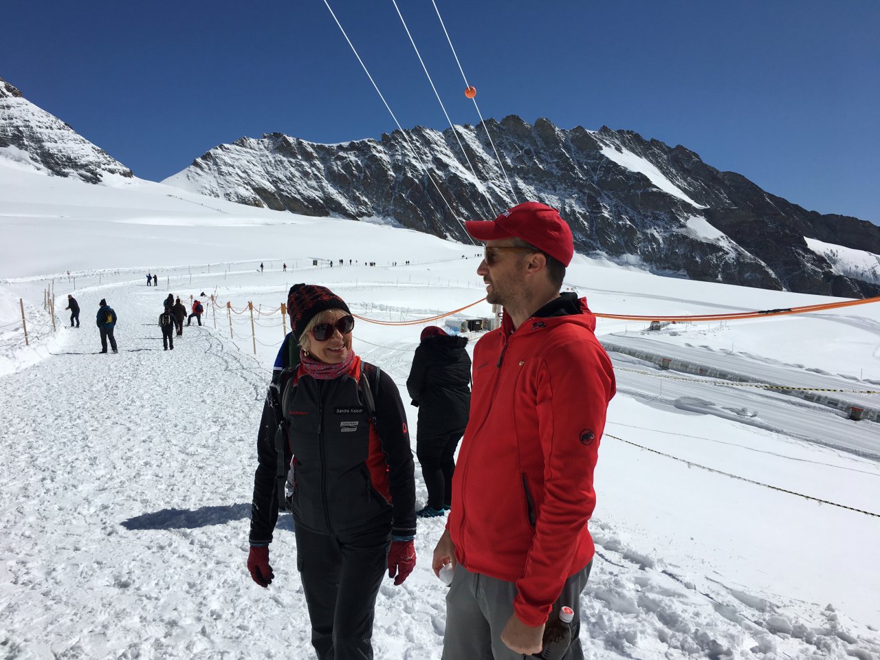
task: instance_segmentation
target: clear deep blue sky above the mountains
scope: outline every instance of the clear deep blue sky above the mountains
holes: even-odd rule
[[[880,223],[876,0],[436,0],[484,117],[627,128],[807,209]],[[391,0],[330,0],[404,128],[447,128]],[[430,0],[398,0],[451,118]],[[323,0],[7,0],[0,77],[144,179],[219,143],[394,128]]]

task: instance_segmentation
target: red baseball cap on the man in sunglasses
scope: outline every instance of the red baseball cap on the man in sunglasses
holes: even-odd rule
[[[524,202],[504,211],[495,220],[468,220],[465,230],[477,240],[522,238],[541,252],[571,263],[575,254],[571,229],[559,211],[539,202]]]

